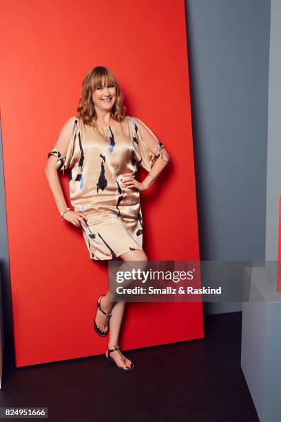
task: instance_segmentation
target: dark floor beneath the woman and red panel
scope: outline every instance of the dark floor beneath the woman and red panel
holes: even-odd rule
[[[241,321],[241,312],[205,316],[205,339],[127,352],[128,373],[103,356],[15,369],[6,340],[0,407],[48,407],[49,421],[258,422]]]

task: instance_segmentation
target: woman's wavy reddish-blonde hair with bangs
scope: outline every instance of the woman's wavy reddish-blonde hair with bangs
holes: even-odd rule
[[[102,86],[103,81],[105,86],[114,85],[116,88],[116,101],[112,108],[112,117],[120,122],[125,119],[126,107],[123,103],[123,93],[118,85],[114,74],[105,66],[96,66],[87,72],[82,83],[82,93],[77,108],[77,117],[79,117],[85,125],[96,126],[96,110],[92,101],[92,93]]]

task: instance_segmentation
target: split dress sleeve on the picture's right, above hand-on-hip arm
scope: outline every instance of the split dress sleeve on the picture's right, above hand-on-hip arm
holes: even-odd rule
[[[149,172],[158,157],[169,161],[169,154],[167,154],[165,146],[158,141],[152,130],[147,128],[147,125],[140,119],[136,117],[131,117],[131,119],[134,156],[138,164]]]

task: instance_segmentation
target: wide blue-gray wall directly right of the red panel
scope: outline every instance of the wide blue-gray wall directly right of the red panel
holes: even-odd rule
[[[186,15],[200,258],[264,260],[270,1],[187,0]]]

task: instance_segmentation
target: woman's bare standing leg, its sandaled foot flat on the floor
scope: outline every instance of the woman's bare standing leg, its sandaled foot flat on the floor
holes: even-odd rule
[[[132,250],[121,255],[123,261],[147,261],[147,255],[143,250]],[[107,292],[108,294],[108,292]],[[105,298],[103,298],[105,299]],[[121,323],[123,319],[123,314],[125,310],[125,302],[116,302],[112,308],[112,316],[110,318],[110,339],[108,342],[108,348],[112,350],[114,345],[118,345],[118,338],[121,329]],[[107,355],[107,352],[106,352]],[[110,357],[114,359],[116,365],[121,366],[122,368],[129,368],[131,366],[131,361],[129,359],[124,363],[121,360],[120,354],[117,351],[110,353]]]

